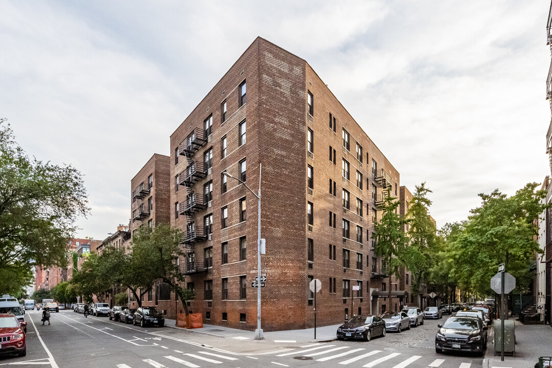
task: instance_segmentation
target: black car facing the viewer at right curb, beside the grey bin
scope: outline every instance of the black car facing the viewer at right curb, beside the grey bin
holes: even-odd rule
[[[483,356],[487,327],[477,317],[449,317],[435,335],[435,351],[471,351]]]

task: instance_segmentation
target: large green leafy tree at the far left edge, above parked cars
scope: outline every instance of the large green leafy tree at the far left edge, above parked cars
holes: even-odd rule
[[[81,173],[30,159],[0,119],[0,271],[25,279],[33,265],[66,266],[67,240],[88,212]]]

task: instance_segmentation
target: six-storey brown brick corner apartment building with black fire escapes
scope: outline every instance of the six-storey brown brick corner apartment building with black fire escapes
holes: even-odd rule
[[[378,204],[386,189],[399,198],[399,172],[305,60],[257,38],[170,145],[170,223],[185,233],[189,309],[205,323],[251,330],[257,319],[257,198],[222,172],[254,192],[261,175],[264,330],[314,326],[312,279],[321,325],[400,308],[376,297],[389,279],[373,250]],[[406,297],[406,280],[392,284]]]

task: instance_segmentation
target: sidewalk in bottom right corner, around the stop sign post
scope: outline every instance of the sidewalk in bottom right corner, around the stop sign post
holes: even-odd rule
[[[522,324],[515,322],[516,355],[504,355],[500,360],[500,353],[495,356],[495,345],[489,339],[487,353],[483,360],[483,368],[534,368],[539,356],[552,356],[552,328],[549,324]]]

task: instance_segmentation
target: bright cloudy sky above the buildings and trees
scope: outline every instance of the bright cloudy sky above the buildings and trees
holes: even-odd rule
[[[438,226],[478,193],[550,173],[548,0],[0,0],[0,117],[30,155],[85,176],[103,239],[130,179],[257,36],[304,58]],[[153,128],[153,129],[152,129]],[[146,134],[147,133],[147,134]]]

